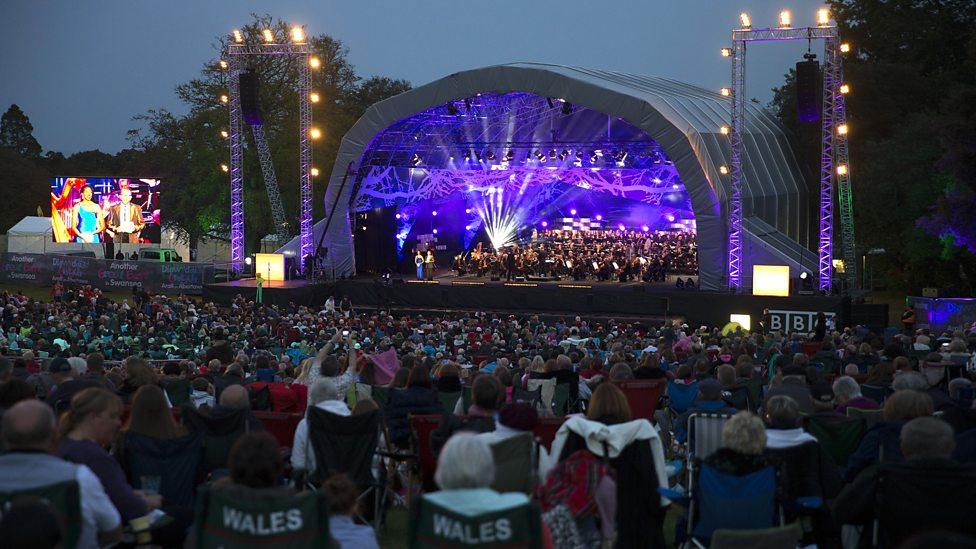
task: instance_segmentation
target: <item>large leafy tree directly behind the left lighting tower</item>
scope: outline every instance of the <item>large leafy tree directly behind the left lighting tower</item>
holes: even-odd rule
[[[253,15],[241,28],[248,40],[260,41],[263,29],[277,36],[288,36],[287,23],[269,15]],[[342,42],[325,35],[308,36],[313,55],[320,67],[312,71],[312,89],[319,102],[312,104],[313,125],[322,138],[312,143],[313,162],[322,176],[313,183],[313,207],[316,218],[323,215],[322,200],[332,164],[338,154],[342,136],[369,106],[410,88],[403,80],[374,77],[359,82],[346,59],[348,49]],[[226,50],[227,37],[214,45]],[[132,130],[130,141],[143,153],[145,173],[163,178],[161,191],[163,223],[176,229],[191,242],[211,231],[226,234],[229,230],[229,178],[220,167],[229,164],[227,141],[220,136],[228,125],[227,106],[220,102],[227,93],[227,72],[219,59],[206,64],[200,76],[176,88],[177,96],[190,107],[185,116],[165,110],[150,110],[137,116],[145,128]],[[282,204],[289,225],[297,231],[299,209],[298,163],[298,70],[296,59],[281,56],[248,60],[249,68],[260,78],[260,103],[264,130],[268,137],[275,174],[281,189]],[[370,103],[371,104],[371,103]],[[247,247],[255,249],[260,238],[273,233],[270,208],[261,167],[250,129],[244,128],[244,217]]]

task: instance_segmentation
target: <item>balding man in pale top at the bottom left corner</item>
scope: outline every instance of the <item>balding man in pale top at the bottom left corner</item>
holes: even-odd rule
[[[119,512],[98,477],[85,465],[49,453],[56,436],[50,407],[36,400],[15,404],[3,415],[2,432],[7,452],[0,455],[0,491],[29,490],[75,480],[81,496],[78,546],[93,549],[121,541]]]

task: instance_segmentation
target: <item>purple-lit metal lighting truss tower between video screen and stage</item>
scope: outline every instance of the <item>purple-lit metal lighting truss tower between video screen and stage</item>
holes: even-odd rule
[[[239,44],[227,45],[229,107],[230,107],[230,261],[231,270],[244,269],[244,165],[242,146],[244,134],[241,118],[240,87],[238,77],[248,56],[286,56],[298,61],[298,148],[299,184],[301,187],[301,211],[298,225],[301,242],[299,265],[305,268],[305,259],[311,255],[312,242],[312,144],[309,130],[312,127],[312,110],[309,105],[311,91],[311,71],[309,59],[311,47],[308,43],[286,44]]]

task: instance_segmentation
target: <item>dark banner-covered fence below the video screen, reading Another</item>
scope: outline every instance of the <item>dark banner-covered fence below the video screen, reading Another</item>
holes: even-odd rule
[[[128,291],[133,287],[150,293],[202,294],[214,280],[212,265],[116,261],[50,254],[0,254],[0,283],[51,286],[91,285],[103,291]]]

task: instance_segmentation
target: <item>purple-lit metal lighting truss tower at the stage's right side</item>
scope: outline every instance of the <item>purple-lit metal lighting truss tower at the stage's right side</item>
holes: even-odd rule
[[[842,67],[839,55],[840,41],[837,27],[824,25],[799,28],[735,29],[732,31],[732,125],[729,132],[731,146],[731,188],[729,200],[729,288],[742,286],[742,129],[745,123],[746,102],[746,43],[777,41],[824,41],[824,66],[820,149],[820,216],[817,246],[819,288],[829,292],[833,287],[833,188],[837,178],[838,198],[841,206],[841,234],[845,275],[848,281],[856,280],[854,212],[851,200],[850,162],[847,152],[847,135],[839,135],[837,124],[845,123],[844,97],[840,93]],[[837,166],[847,166],[843,174]]]

